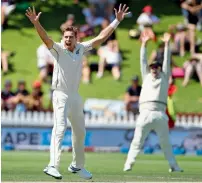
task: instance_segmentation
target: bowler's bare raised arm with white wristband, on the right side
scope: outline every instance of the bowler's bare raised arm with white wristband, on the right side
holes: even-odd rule
[[[116,14],[116,19],[109,26],[107,26],[104,30],[102,30],[97,37],[90,40],[93,48],[101,45],[103,42],[105,42],[107,40],[107,38],[114,32],[114,30],[117,28],[119,23],[124,19],[124,17],[130,13],[130,12],[127,12],[128,9],[129,9],[129,7],[127,7],[126,4],[124,4],[124,6],[122,6],[122,4],[120,4],[118,11],[114,8],[115,14]]]

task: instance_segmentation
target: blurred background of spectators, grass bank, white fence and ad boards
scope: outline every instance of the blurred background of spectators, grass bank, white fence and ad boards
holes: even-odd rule
[[[164,45],[159,38],[169,32],[172,73],[167,113],[173,148],[176,154],[202,154],[200,0],[2,0],[3,149],[47,149],[50,143],[53,57],[25,16],[26,9],[35,6],[42,12],[40,22],[54,41],[61,41],[61,31],[68,25],[78,28],[78,41],[85,41],[113,21],[113,8],[120,3],[126,3],[131,14],[102,46],[83,57],[79,91],[84,101],[86,147],[127,152],[141,92],[141,35],[147,32],[151,37],[148,62],[163,62]],[[63,145],[71,149],[69,129]],[[143,149],[145,153],[160,150],[155,133]]]

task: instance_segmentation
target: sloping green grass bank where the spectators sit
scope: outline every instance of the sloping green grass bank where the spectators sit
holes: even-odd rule
[[[130,11],[133,13],[132,18],[126,18],[117,29],[117,38],[120,43],[120,49],[123,52],[124,61],[122,64],[122,80],[116,82],[112,79],[111,74],[105,73],[104,78],[97,79],[96,73],[92,74],[92,84],[80,86],[80,94],[84,99],[87,98],[108,98],[108,99],[123,99],[126,88],[130,84],[130,79],[133,75],[140,75],[139,50],[140,42],[131,40],[128,37],[128,30],[135,28],[135,22],[141,9],[148,4],[148,0],[141,1],[124,1],[130,6]],[[161,23],[154,26],[156,34],[161,36],[168,30],[170,24],[183,22],[180,8],[171,0],[150,0],[149,4],[154,7],[154,12],[160,17]],[[84,23],[82,15],[82,7],[86,3],[73,5],[72,1],[66,0],[48,0],[35,1],[31,5],[36,6],[37,11],[42,11],[41,23],[47,30],[48,34],[55,40],[59,41],[61,33],[59,26],[65,21],[68,13],[75,13],[77,23]],[[162,8],[166,7],[166,8]],[[9,29],[2,32],[2,46],[6,50],[16,51],[16,55],[10,59],[10,63],[14,68],[14,72],[2,77],[2,83],[5,79],[13,81],[14,88],[19,79],[25,79],[27,86],[31,89],[31,83],[38,77],[36,49],[41,44],[33,25],[27,20],[24,11],[14,12],[9,19]],[[202,32],[197,32],[197,37],[202,37]],[[156,45],[151,42],[148,45],[148,55]],[[182,66],[183,62],[189,57],[186,54],[184,58],[174,57],[177,65]],[[97,56],[90,56],[89,62],[98,61]],[[176,81],[178,91],[174,96],[176,101],[177,112],[201,112],[202,92],[200,84],[191,80],[190,84],[183,88],[182,80]],[[49,100],[49,85],[44,84],[45,91],[44,101],[47,104]]]

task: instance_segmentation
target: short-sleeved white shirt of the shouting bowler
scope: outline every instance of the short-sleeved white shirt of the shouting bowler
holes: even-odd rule
[[[68,51],[62,42],[53,44],[53,48],[50,49],[55,58],[52,89],[67,94],[78,92],[82,74],[82,57],[91,49],[90,41],[77,43],[73,52]]]

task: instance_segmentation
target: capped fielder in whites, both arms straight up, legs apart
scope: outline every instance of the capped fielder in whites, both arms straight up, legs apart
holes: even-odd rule
[[[145,138],[151,130],[155,130],[159,136],[164,155],[169,162],[169,172],[181,172],[182,170],[177,165],[169,142],[168,117],[165,113],[170,75],[170,34],[165,33],[161,38],[165,44],[163,65],[153,61],[148,66],[146,59],[146,44],[148,40],[148,35],[142,36],[140,67],[143,84],[139,99],[140,114],[123,170],[129,171],[132,169]]]

